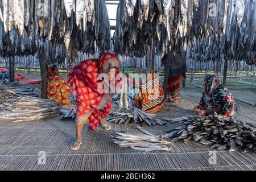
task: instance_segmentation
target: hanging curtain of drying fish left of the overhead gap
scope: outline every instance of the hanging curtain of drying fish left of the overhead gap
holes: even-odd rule
[[[42,47],[49,59],[109,50],[105,1],[1,0],[0,56],[34,55]]]

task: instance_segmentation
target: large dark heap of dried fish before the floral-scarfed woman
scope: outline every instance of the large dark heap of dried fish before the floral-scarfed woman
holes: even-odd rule
[[[178,121],[179,119],[176,120]],[[160,137],[172,138],[171,142],[187,143],[194,140],[217,150],[256,151],[256,128],[241,120],[214,113],[204,117],[181,118],[180,121],[187,123]]]

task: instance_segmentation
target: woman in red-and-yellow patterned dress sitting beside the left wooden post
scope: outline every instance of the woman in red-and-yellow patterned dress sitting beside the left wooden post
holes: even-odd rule
[[[59,77],[56,65],[49,65],[47,68],[47,90],[46,95],[49,100],[59,102],[63,106],[69,104],[68,96],[71,93],[65,80]]]

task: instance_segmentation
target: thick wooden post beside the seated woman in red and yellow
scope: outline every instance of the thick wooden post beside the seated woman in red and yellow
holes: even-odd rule
[[[39,59],[40,72],[41,72],[41,78],[42,78],[42,81],[41,81],[41,98],[47,98],[46,97],[46,87],[47,87],[47,82],[46,82],[46,56],[45,56],[43,48],[39,49],[38,59]]]

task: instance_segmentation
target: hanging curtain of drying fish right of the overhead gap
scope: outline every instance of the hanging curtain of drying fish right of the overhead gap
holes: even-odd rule
[[[143,57],[190,47],[192,60],[246,60],[256,55],[255,32],[254,0],[123,0],[114,50]]]

